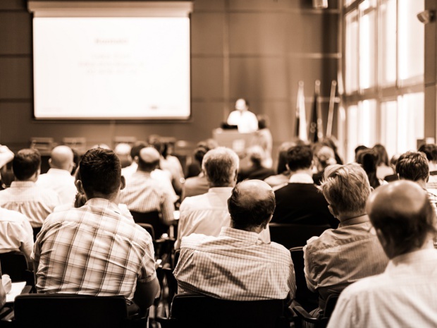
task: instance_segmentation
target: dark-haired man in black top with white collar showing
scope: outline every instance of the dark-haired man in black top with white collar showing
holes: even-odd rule
[[[288,150],[287,167],[291,176],[286,186],[275,191],[276,209],[272,222],[338,226],[328,210],[328,202],[314,185],[312,166],[311,147],[299,145]]]

